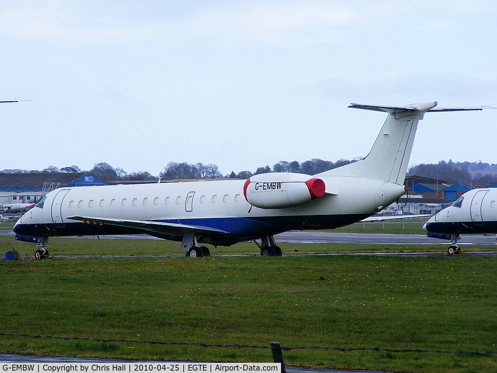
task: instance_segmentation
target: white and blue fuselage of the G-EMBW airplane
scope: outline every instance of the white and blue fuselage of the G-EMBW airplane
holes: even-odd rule
[[[147,233],[181,241],[182,233],[94,222],[96,218],[210,227],[198,241],[231,245],[287,230],[352,224],[399,199],[403,185],[368,178],[322,176],[333,194],[291,208],[261,209],[244,195],[246,180],[166,182],[60,188],[24,214],[14,231],[26,236]],[[262,184],[261,184],[262,187]],[[266,185],[267,187],[267,185]],[[271,189],[268,187],[268,189]],[[84,222],[72,216],[95,218]]]

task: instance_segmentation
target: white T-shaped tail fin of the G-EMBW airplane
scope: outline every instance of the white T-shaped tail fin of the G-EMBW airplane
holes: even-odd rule
[[[352,103],[356,109],[383,111],[388,117],[378,135],[373,148],[363,159],[322,172],[320,176],[355,176],[404,184],[417,123],[427,112],[482,110],[479,108],[437,108],[436,101],[407,106],[375,106]],[[318,176],[317,175],[317,176]]]

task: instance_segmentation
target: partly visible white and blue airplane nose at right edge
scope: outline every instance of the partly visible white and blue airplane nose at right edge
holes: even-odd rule
[[[461,234],[497,233],[497,188],[473,189],[424,224],[426,235],[450,239],[449,254],[460,250]]]

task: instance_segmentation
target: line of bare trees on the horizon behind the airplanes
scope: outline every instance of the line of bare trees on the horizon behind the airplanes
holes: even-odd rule
[[[313,158],[302,163],[294,161],[280,160],[273,164],[258,167],[254,172],[251,171],[232,171],[230,174],[223,175],[219,167],[215,164],[203,163],[177,163],[169,162],[164,171],[158,176],[152,175],[148,171],[127,173],[122,168],[114,168],[106,162],[95,163],[92,169],[83,171],[77,165],[58,168],[55,166],[39,170],[21,170],[21,169],[4,169],[2,173],[53,173],[53,172],[88,172],[100,178],[103,181],[158,181],[162,180],[181,180],[181,179],[221,179],[221,178],[240,178],[247,179],[250,176],[266,172],[299,172],[308,175],[315,175],[336,167],[343,166],[355,160],[339,159],[336,162]],[[497,164],[483,162],[448,162],[441,160],[436,164],[417,164],[408,169],[408,175],[417,175],[430,177],[433,179],[446,180],[450,184],[461,183],[468,186],[489,186],[497,183]]]

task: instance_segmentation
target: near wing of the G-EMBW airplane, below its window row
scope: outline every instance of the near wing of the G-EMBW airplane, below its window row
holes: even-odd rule
[[[111,224],[111,225],[126,226],[129,228],[144,229],[152,232],[178,235],[178,236],[183,236],[187,231],[211,232],[211,233],[220,233],[220,234],[228,233],[225,230],[211,228],[209,226],[203,226],[203,225],[165,223],[165,222],[155,222],[148,220],[124,220],[124,219],[83,217],[83,216],[70,216],[67,217],[67,219],[79,220],[83,223],[88,223],[88,224]]]

